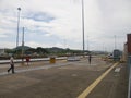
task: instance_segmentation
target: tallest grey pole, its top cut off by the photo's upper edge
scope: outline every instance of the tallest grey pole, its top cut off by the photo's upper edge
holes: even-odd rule
[[[82,0],[82,41],[83,41],[83,56],[85,51],[85,44],[84,44],[84,1]]]

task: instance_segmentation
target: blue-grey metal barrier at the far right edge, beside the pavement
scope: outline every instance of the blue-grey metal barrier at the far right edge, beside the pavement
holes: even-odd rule
[[[128,57],[128,69],[129,69],[128,98],[131,98],[131,56]]]

